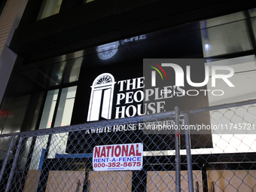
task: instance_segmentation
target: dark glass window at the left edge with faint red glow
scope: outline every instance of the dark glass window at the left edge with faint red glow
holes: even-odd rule
[[[1,133],[35,130],[44,90],[23,74],[11,75],[0,109]]]

